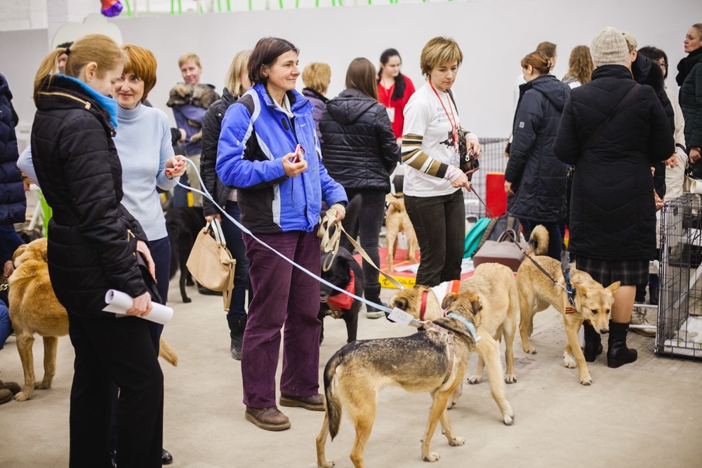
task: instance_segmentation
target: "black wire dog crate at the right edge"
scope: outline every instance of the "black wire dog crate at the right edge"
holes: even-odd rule
[[[702,199],[682,194],[661,213],[656,354],[702,359]]]

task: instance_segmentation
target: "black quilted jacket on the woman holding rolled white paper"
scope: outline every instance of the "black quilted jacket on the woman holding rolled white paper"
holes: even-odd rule
[[[137,267],[139,223],[121,205],[122,169],[110,114],[70,79],[45,81],[36,99],[32,161],[53,218],[48,270],[69,314],[101,312],[114,288],[131,297],[147,291]]]

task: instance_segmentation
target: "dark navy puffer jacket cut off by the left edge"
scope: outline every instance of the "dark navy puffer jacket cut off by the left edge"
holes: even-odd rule
[[[0,224],[24,222],[27,199],[22,173],[17,167],[17,114],[12,107],[12,93],[5,76],[0,74]]]

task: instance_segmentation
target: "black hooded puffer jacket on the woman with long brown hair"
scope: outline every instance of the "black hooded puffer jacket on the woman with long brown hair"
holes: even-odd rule
[[[319,130],[324,167],[336,182],[345,189],[390,192],[400,149],[383,105],[357,89],[344,90],[326,103]]]

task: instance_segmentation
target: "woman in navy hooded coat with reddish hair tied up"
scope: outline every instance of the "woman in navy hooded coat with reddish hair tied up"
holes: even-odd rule
[[[519,218],[524,237],[529,239],[536,225],[544,225],[548,229],[548,255],[560,260],[566,166],[553,154],[553,140],[570,88],[549,74],[550,62],[541,52],[532,52],[522,59],[527,83],[519,87],[522,97],[512,128],[505,192],[508,213]]]

